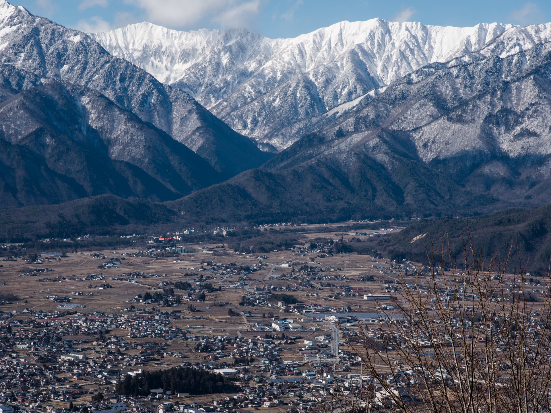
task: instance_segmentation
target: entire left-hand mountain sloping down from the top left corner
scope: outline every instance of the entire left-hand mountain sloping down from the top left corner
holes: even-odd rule
[[[271,155],[77,30],[0,0],[0,202],[179,198]]]

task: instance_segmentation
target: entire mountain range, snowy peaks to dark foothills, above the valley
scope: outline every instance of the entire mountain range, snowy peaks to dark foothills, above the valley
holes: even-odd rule
[[[551,204],[550,34],[375,19],[295,39],[148,23],[88,35],[0,0],[0,202],[28,205],[3,225]]]

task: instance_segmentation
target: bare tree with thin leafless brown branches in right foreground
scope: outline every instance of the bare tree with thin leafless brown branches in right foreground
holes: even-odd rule
[[[507,273],[511,251],[484,262],[470,238],[460,269],[444,245],[431,243],[428,268],[399,275],[378,325],[343,334],[360,377],[336,380],[320,410],[550,411],[549,274],[534,289],[522,265]]]

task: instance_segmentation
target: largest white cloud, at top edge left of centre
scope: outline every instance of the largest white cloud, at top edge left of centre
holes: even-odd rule
[[[224,27],[249,24],[258,15],[261,0],[125,0],[142,9],[150,23],[186,28],[208,19]],[[235,19],[235,20],[233,20]]]

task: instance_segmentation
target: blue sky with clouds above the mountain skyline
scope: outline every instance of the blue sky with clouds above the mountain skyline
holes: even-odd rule
[[[64,26],[104,31],[150,21],[171,29],[245,28],[268,37],[294,37],[342,20],[473,26],[546,23],[551,1],[512,0],[9,0]]]

